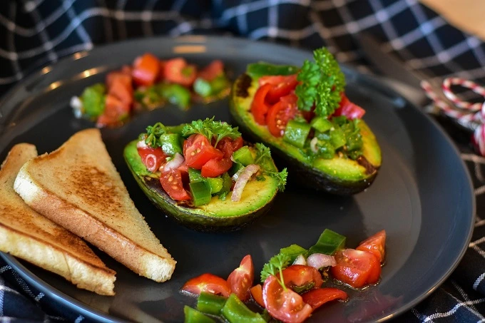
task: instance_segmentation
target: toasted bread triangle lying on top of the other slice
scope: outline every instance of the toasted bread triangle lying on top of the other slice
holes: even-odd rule
[[[14,188],[34,210],[138,275],[170,279],[175,260],[136,209],[98,129],[82,130],[27,162]]]

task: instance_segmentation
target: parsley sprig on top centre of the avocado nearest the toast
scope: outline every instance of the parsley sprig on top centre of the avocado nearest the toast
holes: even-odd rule
[[[182,129],[182,135],[185,137],[193,135],[194,133],[204,135],[211,143],[213,138],[215,138],[214,147],[225,137],[235,139],[241,136],[238,127],[233,128],[228,123],[214,121],[214,117],[206,118],[204,121],[192,121],[192,123],[188,123]]]

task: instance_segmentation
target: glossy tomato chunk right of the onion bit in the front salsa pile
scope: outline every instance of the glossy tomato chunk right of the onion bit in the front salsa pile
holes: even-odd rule
[[[346,249],[335,255],[337,265],[330,272],[337,279],[352,287],[374,284],[381,275],[381,264],[371,252]]]

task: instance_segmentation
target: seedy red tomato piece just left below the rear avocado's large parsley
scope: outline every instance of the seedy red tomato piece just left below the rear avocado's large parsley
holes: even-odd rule
[[[298,98],[294,93],[283,96],[267,112],[267,129],[275,137],[281,137],[285,134],[288,121],[294,118],[298,111],[297,100]]]

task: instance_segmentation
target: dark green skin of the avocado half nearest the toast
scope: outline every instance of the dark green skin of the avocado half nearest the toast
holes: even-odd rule
[[[133,169],[133,165],[130,163],[127,153],[128,147],[133,145],[133,143],[134,142],[131,142],[126,145],[123,157],[125,158],[126,165],[128,165],[128,169],[131,171],[133,178],[135,178],[136,183],[138,183],[138,186],[140,186],[143,193],[145,193],[155,207],[164,214],[169,215],[175,222],[192,230],[200,232],[232,232],[240,230],[254,222],[257,217],[265,215],[265,213],[270,210],[272,202],[275,200],[276,191],[275,195],[267,204],[253,212],[237,215],[235,217],[211,217],[208,215],[195,214],[194,212],[191,212],[192,207],[172,200],[170,196],[165,193],[165,190],[163,190],[160,180],[148,175],[140,175]],[[230,197],[228,196],[228,198]]]

